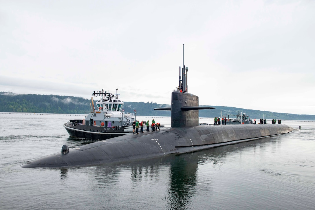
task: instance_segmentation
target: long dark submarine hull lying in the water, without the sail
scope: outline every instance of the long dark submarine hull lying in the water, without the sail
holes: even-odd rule
[[[70,149],[67,154],[58,152],[47,155],[21,167],[69,167],[152,158],[251,141],[291,131],[293,129],[284,124],[176,127],[86,144]]]

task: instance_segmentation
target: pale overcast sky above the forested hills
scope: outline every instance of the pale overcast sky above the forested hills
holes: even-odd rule
[[[182,44],[199,105],[315,114],[312,0],[0,0],[0,91],[170,104]]]

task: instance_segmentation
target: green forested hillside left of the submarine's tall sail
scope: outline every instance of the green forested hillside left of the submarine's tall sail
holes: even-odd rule
[[[0,92],[0,112],[84,114],[91,111],[90,102],[90,99],[74,96]],[[123,109],[125,112],[136,110],[137,115],[142,116],[170,116],[169,111],[153,110],[161,106],[153,102],[125,102]]]

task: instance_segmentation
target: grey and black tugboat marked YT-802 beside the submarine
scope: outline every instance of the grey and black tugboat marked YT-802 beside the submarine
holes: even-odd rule
[[[124,113],[123,104],[119,94],[107,93],[104,90],[93,92],[91,98],[91,111],[86,112],[83,120],[69,120],[63,126],[69,135],[74,138],[105,140],[117,136],[132,133],[134,113]],[[94,106],[93,96],[100,96],[100,100]]]

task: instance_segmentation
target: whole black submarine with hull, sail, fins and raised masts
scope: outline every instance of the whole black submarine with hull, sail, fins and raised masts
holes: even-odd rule
[[[171,94],[171,107],[155,108],[171,111],[170,128],[109,138],[72,149],[63,145],[61,152],[31,160],[21,167],[54,168],[133,161],[189,153],[293,131],[292,127],[285,124],[199,125],[198,110],[213,107],[199,107],[198,96],[188,92],[184,44],[180,71],[179,86]]]

